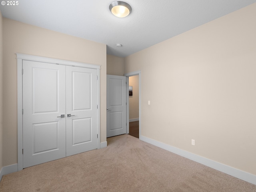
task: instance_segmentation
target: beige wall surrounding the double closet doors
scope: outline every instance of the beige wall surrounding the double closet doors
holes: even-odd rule
[[[106,108],[106,45],[3,19],[3,166],[17,163],[17,61],[15,53],[101,65],[100,108]],[[106,141],[106,110],[100,113],[100,142]]]

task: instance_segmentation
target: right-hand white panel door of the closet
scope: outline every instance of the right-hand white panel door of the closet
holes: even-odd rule
[[[96,149],[96,69],[66,66],[66,114],[66,156]]]

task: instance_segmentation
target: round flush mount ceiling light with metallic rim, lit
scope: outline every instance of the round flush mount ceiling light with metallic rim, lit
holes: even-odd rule
[[[117,17],[126,17],[132,12],[132,7],[123,1],[115,1],[109,5],[109,10]]]

